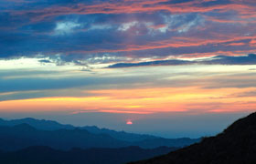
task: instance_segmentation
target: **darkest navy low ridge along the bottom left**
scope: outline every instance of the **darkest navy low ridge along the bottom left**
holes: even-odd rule
[[[15,152],[0,152],[2,164],[122,164],[148,159],[170,152],[170,148],[140,149],[71,149],[61,151],[48,147],[29,147]]]

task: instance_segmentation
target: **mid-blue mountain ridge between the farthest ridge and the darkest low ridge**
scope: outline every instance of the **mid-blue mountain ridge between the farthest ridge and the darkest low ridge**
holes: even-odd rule
[[[143,141],[128,142],[112,138],[107,134],[92,134],[85,129],[40,130],[28,124],[19,124],[14,127],[0,126],[0,149],[17,150],[30,146],[48,146],[53,149],[68,150],[74,147],[90,148],[122,148],[139,146],[153,149],[161,146],[181,148],[195,143],[190,138],[166,139],[155,138]]]

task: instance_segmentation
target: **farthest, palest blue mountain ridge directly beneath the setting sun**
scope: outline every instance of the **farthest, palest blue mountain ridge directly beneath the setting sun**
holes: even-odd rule
[[[19,124],[27,124],[33,128],[37,128],[38,130],[45,131],[58,131],[60,129],[81,129],[86,130],[95,136],[107,135],[107,138],[112,137],[114,139],[117,139],[119,142],[122,141],[123,144],[121,144],[121,146],[140,146],[144,149],[154,149],[161,146],[182,148],[200,140],[200,138],[160,138],[151,135],[141,135],[135,133],[127,133],[124,131],[115,131],[107,128],[97,128],[96,126],[74,127],[69,124],[63,125],[57,121],[45,119],[38,120],[35,118],[22,118],[5,120],[0,118],[0,126],[13,127]]]

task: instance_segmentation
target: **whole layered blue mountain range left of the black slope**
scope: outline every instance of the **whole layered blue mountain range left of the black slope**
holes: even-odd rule
[[[166,154],[198,140],[74,127],[35,118],[0,119],[0,163],[122,164]]]

